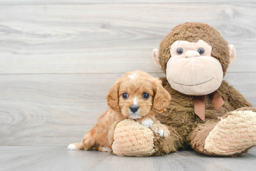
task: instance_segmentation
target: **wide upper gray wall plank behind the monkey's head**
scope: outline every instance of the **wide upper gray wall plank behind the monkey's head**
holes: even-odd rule
[[[229,72],[256,72],[255,10],[255,3],[2,5],[0,73],[161,73],[152,50],[188,21],[212,25],[236,47]]]

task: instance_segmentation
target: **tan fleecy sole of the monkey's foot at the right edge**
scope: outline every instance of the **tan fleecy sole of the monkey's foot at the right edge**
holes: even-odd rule
[[[234,155],[256,144],[256,112],[237,110],[220,119],[205,139],[204,149],[217,155]]]

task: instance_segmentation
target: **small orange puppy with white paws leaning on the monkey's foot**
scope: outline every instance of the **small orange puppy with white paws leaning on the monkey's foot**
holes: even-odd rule
[[[115,81],[106,98],[109,109],[98,117],[82,142],[68,145],[69,150],[110,151],[115,127],[124,119],[133,119],[164,137],[170,134],[153,112],[165,111],[171,99],[158,78],[142,71],[128,72]]]

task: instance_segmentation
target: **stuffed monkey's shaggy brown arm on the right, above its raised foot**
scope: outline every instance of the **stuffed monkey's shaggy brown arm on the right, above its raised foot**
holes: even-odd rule
[[[224,90],[223,92],[226,93],[228,97],[230,105],[232,105],[235,109],[252,107],[251,103],[249,103],[239,91],[237,91],[233,86],[230,86],[224,80],[222,82],[222,87]]]

